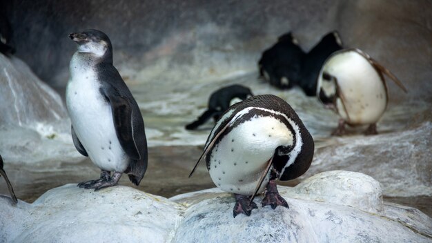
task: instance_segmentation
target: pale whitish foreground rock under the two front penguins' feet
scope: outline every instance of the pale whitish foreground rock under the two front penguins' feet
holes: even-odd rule
[[[33,204],[0,197],[0,242],[431,242],[431,218],[382,204],[377,185],[360,173],[321,173],[279,188],[290,208],[233,218],[233,196],[217,188],[168,200],[126,186],[95,192],[68,184]],[[362,202],[369,196],[373,203]]]

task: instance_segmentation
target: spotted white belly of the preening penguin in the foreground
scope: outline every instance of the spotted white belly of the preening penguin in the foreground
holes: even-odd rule
[[[233,128],[210,151],[210,177],[229,193],[252,195],[268,159],[281,145],[293,145],[291,131],[273,117],[254,117]],[[266,176],[259,193],[264,191]]]

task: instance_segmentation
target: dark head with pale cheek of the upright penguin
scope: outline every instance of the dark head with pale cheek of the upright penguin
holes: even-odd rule
[[[104,32],[99,30],[84,30],[80,33],[72,33],[69,38],[78,44],[79,52],[91,53],[97,57],[112,53],[110,39]]]

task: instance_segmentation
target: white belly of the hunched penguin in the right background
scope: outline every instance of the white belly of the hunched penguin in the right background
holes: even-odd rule
[[[348,124],[376,123],[387,105],[387,92],[377,70],[357,52],[344,52],[331,58],[324,71],[337,79],[342,99],[337,110]]]

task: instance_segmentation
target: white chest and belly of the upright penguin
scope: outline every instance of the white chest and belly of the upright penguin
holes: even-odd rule
[[[94,164],[106,171],[123,172],[128,156],[117,139],[111,106],[99,91],[92,68],[70,66],[66,106],[72,126]]]

